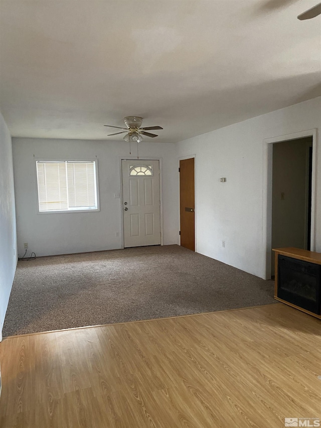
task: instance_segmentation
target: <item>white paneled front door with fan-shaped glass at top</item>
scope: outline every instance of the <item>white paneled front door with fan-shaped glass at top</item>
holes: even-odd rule
[[[159,245],[159,161],[121,161],[124,247]]]

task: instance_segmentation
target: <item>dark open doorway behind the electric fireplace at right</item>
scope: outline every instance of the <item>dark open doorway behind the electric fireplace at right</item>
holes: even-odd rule
[[[312,136],[271,146],[271,248],[311,250]],[[273,256],[270,273],[273,278]]]

